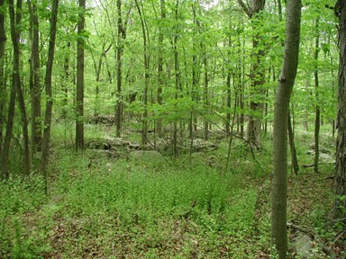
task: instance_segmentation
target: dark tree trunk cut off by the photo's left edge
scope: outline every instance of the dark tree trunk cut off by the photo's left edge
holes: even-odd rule
[[[0,0],[0,10],[5,10],[5,0]],[[5,12],[0,12],[0,157],[3,150],[3,129],[4,129],[4,108],[5,108],[5,45],[6,45],[6,31],[5,31]]]

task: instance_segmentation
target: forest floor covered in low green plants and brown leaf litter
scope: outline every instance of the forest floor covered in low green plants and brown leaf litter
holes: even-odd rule
[[[93,127],[87,138],[105,138]],[[254,157],[235,138],[226,172],[227,139],[211,138],[217,145],[173,159],[131,156],[128,147],[114,156],[76,152],[57,132],[48,193],[39,174],[0,183],[0,258],[276,258],[269,249],[270,137]],[[314,174],[313,139],[296,136],[289,258],[327,258],[323,250],[345,258],[345,226],[329,217],[333,163],[322,160]],[[322,136],[330,157],[333,143]],[[311,245],[297,248],[301,240]],[[298,255],[305,252],[311,255]]]

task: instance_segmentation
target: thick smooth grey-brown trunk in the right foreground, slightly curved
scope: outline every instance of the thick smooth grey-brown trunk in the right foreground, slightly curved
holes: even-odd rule
[[[298,65],[301,0],[287,2],[286,42],[274,106],[273,180],[271,192],[272,246],[280,259],[287,255],[287,118]]]

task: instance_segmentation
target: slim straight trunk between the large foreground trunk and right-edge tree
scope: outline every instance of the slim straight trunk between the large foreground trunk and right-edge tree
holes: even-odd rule
[[[316,29],[316,41],[314,46],[314,97],[315,97],[315,118],[314,118],[314,173],[318,173],[318,160],[320,156],[320,125],[321,125],[321,111],[319,104],[319,83],[318,83],[318,53],[320,45],[320,35],[318,29],[318,20],[316,19],[315,29]]]

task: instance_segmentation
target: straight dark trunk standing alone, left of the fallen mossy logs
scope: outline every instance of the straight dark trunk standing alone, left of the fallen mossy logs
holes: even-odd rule
[[[83,39],[84,28],[86,26],[86,0],[79,1],[79,14],[77,25],[77,120],[76,120],[76,149],[84,148],[84,49]]]

